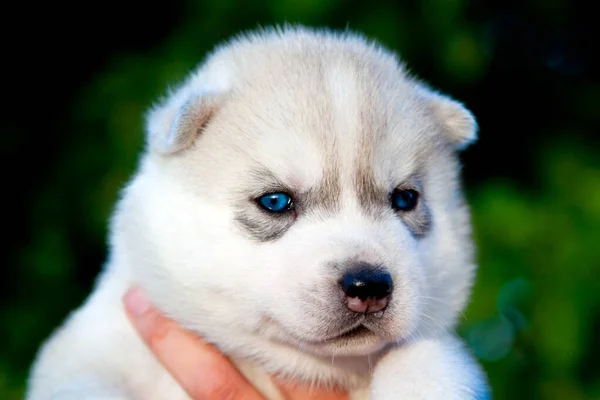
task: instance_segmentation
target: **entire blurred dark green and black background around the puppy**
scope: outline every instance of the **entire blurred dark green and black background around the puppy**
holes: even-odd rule
[[[273,23],[350,27],[464,101],[480,264],[460,328],[496,399],[600,399],[600,37],[592,2],[11,4],[3,24],[0,399],[91,290],[142,114],[218,41]],[[18,8],[21,7],[21,8]],[[10,22],[6,21],[6,22]],[[7,106],[7,103],[8,104]]]

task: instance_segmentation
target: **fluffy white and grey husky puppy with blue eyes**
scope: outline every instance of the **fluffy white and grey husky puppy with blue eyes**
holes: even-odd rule
[[[29,400],[187,398],[125,315],[132,286],[269,399],[272,374],[355,399],[487,395],[453,332],[475,272],[463,105],[360,35],[286,27],[218,47],[146,130],[106,268]]]

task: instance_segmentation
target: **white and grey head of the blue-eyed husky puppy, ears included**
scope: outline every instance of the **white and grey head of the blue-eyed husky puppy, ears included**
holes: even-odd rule
[[[186,326],[360,355],[463,309],[456,153],[475,121],[387,51],[306,30],[238,38],[147,129],[114,244]]]

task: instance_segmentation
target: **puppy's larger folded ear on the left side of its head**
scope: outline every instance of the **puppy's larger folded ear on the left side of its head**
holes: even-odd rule
[[[178,93],[153,107],[146,116],[148,146],[160,154],[189,147],[217,109],[215,94]]]

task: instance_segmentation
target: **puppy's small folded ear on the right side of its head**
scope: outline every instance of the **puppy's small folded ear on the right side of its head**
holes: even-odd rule
[[[477,121],[465,106],[447,96],[426,90],[425,97],[434,117],[444,127],[444,135],[457,150],[477,140]]]

